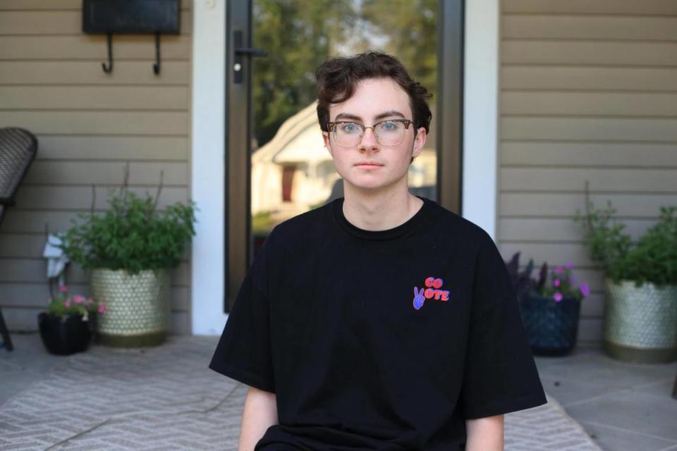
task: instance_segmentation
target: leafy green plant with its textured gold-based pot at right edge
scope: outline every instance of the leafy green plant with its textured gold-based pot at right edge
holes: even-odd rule
[[[592,261],[602,265],[606,299],[604,350],[610,357],[638,363],[677,359],[677,206],[661,206],[659,221],[638,240],[623,233],[616,209],[595,209],[574,221],[587,231]]]

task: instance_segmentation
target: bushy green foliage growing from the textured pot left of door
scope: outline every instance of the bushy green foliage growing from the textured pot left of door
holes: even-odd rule
[[[83,269],[126,269],[132,274],[143,270],[174,268],[181,262],[184,249],[195,229],[195,202],[166,207],[157,211],[157,201],[162,189],[162,175],[155,198],[138,197],[127,189],[129,175],[126,167],[125,182],[118,193],[109,190],[110,209],[104,214],[94,214],[95,187],[92,186],[92,211],[78,214],[83,220],[66,233],[57,233],[63,249],[71,261]]]

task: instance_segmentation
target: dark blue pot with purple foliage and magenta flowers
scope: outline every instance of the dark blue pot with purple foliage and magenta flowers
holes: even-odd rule
[[[580,302],[590,295],[590,288],[585,282],[575,286],[571,262],[550,272],[544,263],[539,277],[532,278],[530,259],[525,271],[519,272],[519,254],[513,255],[506,266],[531,350],[538,355],[568,354],[576,345]]]

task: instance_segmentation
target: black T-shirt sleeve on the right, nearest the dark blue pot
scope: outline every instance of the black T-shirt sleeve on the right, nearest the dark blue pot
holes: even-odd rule
[[[483,231],[470,307],[461,387],[465,419],[528,409],[547,399],[528,344],[505,261]]]

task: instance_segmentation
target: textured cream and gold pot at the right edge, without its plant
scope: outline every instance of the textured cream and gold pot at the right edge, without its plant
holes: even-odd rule
[[[677,285],[635,287],[604,278],[604,350],[615,359],[664,363],[677,359]]]

